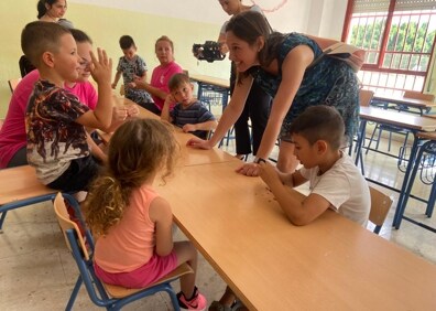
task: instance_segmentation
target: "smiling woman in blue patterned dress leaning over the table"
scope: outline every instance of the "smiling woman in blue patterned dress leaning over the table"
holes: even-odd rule
[[[253,11],[232,17],[226,34],[230,60],[238,71],[233,96],[210,140],[190,139],[189,146],[210,149],[220,141],[241,115],[253,79],[273,97],[273,103],[254,163],[244,164],[239,173],[258,175],[257,163],[268,159],[277,138],[281,138],[277,169],[295,171],[298,161],[293,154],[294,144],[286,137],[291,122],[309,106],[335,107],[344,118],[346,135],[351,137],[356,132],[357,76],[345,62],[331,57],[310,65],[323,53],[314,37],[272,32],[265,18]]]

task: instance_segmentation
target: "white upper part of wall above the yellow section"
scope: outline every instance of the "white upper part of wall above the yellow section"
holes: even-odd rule
[[[131,10],[218,25],[229,18],[221,10],[218,0],[167,0],[166,2],[159,0],[68,0],[68,2]],[[271,25],[277,31],[296,31],[336,39],[340,39],[347,9],[347,0],[242,0],[242,2],[249,6],[257,3],[264,9]]]

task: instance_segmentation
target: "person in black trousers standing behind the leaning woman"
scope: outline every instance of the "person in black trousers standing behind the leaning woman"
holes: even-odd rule
[[[262,13],[261,8],[258,6],[243,6],[242,0],[218,0],[221,4],[222,10],[230,17],[239,14],[241,12],[252,10]],[[226,44],[226,22],[219,33],[218,42],[221,43],[221,53],[226,54],[229,50]],[[231,62],[230,71],[230,96],[233,95],[235,83],[237,78],[237,71],[235,62]],[[253,83],[250,89],[250,94],[247,98],[241,116],[235,124],[235,136],[236,136],[236,149],[237,158],[244,159],[247,154],[253,152],[257,154],[260,142],[262,140],[263,131],[265,130],[268,122],[268,115],[270,110],[271,97],[259,86],[258,83]],[[248,119],[251,119],[252,139],[250,137],[250,129]],[[253,149],[251,150],[251,141]]]

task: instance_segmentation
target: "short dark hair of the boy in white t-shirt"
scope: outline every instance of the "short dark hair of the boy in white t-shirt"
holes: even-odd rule
[[[290,136],[293,133],[301,135],[310,144],[325,140],[337,150],[342,147],[345,139],[344,119],[334,107],[312,106],[292,121]]]

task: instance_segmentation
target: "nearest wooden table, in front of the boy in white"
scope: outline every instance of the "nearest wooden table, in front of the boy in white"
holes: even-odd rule
[[[250,310],[436,310],[436,266],[334,213],[293,226],[237,162],[183,167],[157,192]]]

